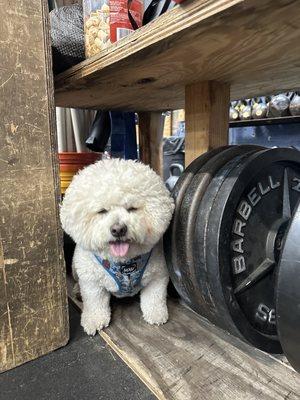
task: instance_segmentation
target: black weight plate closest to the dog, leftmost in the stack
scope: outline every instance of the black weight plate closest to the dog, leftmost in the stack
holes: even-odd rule
[[[196,158],[196,160],[184,170],[172,191],[172,197],[175,200],[175,211],[170,226],[164,236],[164,252],[172,283],[177,292],[187,303],[190,303],[190,299],[186,292],[186,287],[192,286],[193,284],[189,280],[189,275],[185,273],[185,268],[182,268],[180,261],[178,261],[180,260],[180,256],[178,256],[177,253],[177,235],[181,203],[197,171],[201,169],[211,157],[229,147],[230,146],[219,147]]]

